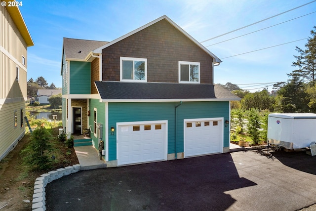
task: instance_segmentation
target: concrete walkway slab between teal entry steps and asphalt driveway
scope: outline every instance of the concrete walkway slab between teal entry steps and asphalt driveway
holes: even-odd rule
[[[106,168],[105,161],[99,158],[99,152],[93,146],[74,147],[81,170]]]

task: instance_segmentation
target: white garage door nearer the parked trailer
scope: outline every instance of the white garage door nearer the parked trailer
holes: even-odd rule
[[[184,121],[185,157],[223,152],[223,120]]]

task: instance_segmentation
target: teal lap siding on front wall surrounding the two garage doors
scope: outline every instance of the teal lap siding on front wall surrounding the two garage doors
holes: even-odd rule
[[[179,102],[109,103],[109,130],[119,122],[168,121],[168,154],[174,153],[175,106]],[[183,120],[223,117],[229,120],[229,102],[183,102],[177,108],[177,152],[184,151]],[[118,128],[116,128],[118,129]],[[224,147],[228,146],[229,127],[224,125]],[[109,135],[109,160],[117,159],[115,135]]]

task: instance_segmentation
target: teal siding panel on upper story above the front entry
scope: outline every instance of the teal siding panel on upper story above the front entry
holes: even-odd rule
[[[70,62],[70,94],[91,93],[90,69],[90,62]]]

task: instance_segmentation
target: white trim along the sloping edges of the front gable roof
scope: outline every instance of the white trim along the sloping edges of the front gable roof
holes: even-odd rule
[[[197,40],[195,40],[192,36],[190,36],[187,32],[185,32],[181,27],[179,27],[176,23],[174,23],[174,22],[173,22],[170,18],[168,18],[166,15],[163,15],[163,16],[161,16],[160,18],[158,18],[158,19],[156,19],[156,20],[154,20],[154,21],[152,21],[152,22],[149,22],[148,24],[146,24],[146,25],[144,25],[144,26],[142,26],[142,27],[140,27],[140,28],[138,28],[138,29],[136,29],[136,30],[134,30],[134,31],[132,31],[132,32],[130,32],[130,33],[124,35],[124,36],[122,36],[122,37],[119,37],[118,39],[116,39],[116,40],[114,40],[114,41],[112,41],[112,42],[106,43],[106,44],[104,44],[104,45],[102,45],[102,46],[100,46],[100,47],[94,49],[94,50],[92,51],[92,53],[102,53],[102,49],[104,49],[104,48],[106,48],[106,47],[108,47],[108,46],[110,46],[110,45],[112,45],[112,44],[115,44],[115,43],[117,43],[117,42],[119,42],[119,41],[121,41],[121,40],[123,40],[123,39],[125,39],[125,38],[127,38],[127,37],[129,37],[129,36],[131,36],[131,35],[133,35],[133,34],[135,34],[135,33],[137,33],[137,32],[139,32],[139,31],[141,31],[141,30],[143,30],[143,29],[145,29],[145,28],[147,28],[147,27],[149,27],[149,26],[151,26],[151,25],[153,25],[153,24],[155,24],[155,23],[157,23],[157,22],[159,22],[159,21],[161,21],[161,20],[163,20],[163,19],[165,19],[167,22],[169,22],[174,28],[176,28],[178,31],[180,31],[182,34],[184,34],[184,35],[185,35],[187,38],[189,38],[192,42],[194,42],[195,44],[197,44],[197,46],[199,46],[202,50],[204,50],[208,55],[210,55],[211,57],[213,57],[213,58],[214,58],[214,61],[213,61],[213,62],[222,62],[222,60],[220,60],[217,56],[215,56],[211,51],[209,51],[209,50],[208,50],[206,47],[204,47],[201,43],[197,42]]]

